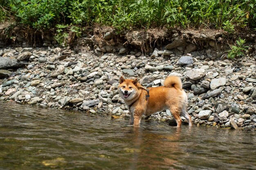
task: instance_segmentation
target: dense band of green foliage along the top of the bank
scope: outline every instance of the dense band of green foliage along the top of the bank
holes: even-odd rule
[[[12,18],[34,29],[68,25],[78,36],[81,31],[74,26],[112,26],[119,31],[182,26],[233,33],[255,29],[255,9],[256,0],[4,0],[0,22]]]

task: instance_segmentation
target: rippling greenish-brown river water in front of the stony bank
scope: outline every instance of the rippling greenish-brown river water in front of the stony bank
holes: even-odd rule
[[[0,103],[0,170],[256,170],[256,132]]]

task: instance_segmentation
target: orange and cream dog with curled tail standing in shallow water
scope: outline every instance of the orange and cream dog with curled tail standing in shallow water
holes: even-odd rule
[[[171,111],[177,127],[182,123],[180,115],[186,118],[189,126],[192,126],[191,116],[186,112],[187,95],[178,76],[167,77],[164,86],[148,89],[141,86],[137,79],[121,77],[118,92],[130,111],[130,125],[134,127],[139,127],[142,115],[149,117],[164,109]]]

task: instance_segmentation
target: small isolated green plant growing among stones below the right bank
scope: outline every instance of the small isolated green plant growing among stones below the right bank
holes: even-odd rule
[[[245,40],[239,37],[239,39],[236,40],[236,44],[237,46],[232,45],[231,50],[227,51],[228,52],[227,57],[229,59],[234,59],[235,57],[240,57],[245,55],[244,51],[246,50],[246,48],[248,48],[248,46],[243,46],[245,44]]]

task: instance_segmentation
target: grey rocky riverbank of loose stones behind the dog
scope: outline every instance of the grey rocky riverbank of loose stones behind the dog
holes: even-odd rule
[[[147,87],[178,75],[193,124],[256,129],[255,51],[238,60],[227,60],[223,52],[211,49],[186,55],[164,48],[150,55],[124,48],[119,49],[121,55],[97,52],[66,47],[0,49],[0,101],[129,117],[117,92],[121,75],[136,77]],[[149,119],[173,125],[168,110]]]

